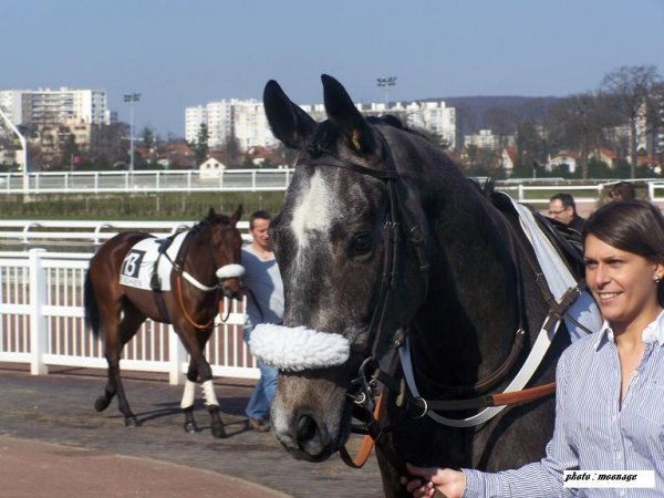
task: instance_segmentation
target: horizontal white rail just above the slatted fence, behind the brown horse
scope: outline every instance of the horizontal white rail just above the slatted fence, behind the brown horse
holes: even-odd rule
[[[44,245],[49,247],[98,248],[121,231],[146,231],[156,237],[168,237],[188,230],[197,221],[68,221],[68,220],[8,220],[0,219],[0,246],[21,246],[14,249],[29,249]],[[249,221],[239,221],[238,228],[245,241]]]

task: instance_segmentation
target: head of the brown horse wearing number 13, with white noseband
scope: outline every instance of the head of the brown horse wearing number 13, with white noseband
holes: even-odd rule
[[[214,208],[210,208],[203,220],[203,224],[209,227],[215,274],[219,279],[221,292],[229,299],[242,299],[240,280],[245,273],[240,264],[242,236],[236,227],[241,216],[241,206],[230,217],[217,214]]]

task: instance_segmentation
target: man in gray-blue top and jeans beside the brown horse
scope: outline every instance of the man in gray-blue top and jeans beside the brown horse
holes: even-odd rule
[[[279,267],[270,242],[271,217],[266,211],[256,211],[249,218],[251,243],[242,248],[245,267],[245,292],[247,312],[245,318],[245,342],[249,342],[251,331],[259,323],[281,324],[283,319],[283,284]],[[273,366],[258,362],[258,380],[245,413],[255,430],[270,430],[270,403],[277,390],[278,371]]]

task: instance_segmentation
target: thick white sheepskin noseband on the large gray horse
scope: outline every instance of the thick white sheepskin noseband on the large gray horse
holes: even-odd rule
[[[349,359],[351,343],[341,334],[261,323],[251,331],[249,349],[268,365],[300,372],[341,365]]]

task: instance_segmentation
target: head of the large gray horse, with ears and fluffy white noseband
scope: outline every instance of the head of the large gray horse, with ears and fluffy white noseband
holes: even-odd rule
[[[259,325],[252,352],[280,369],[274,434],[295,457],[319,461],[351,429],[356,378],[424,301],[424,212],[396,162],[406,132],[365,120],[323,75],[328,121],[317,123],[274,81],[264,107],[274,136],[298,152],[271,237],[283,279],[283,326]],[[398,141],[396,141],[398,142]],[[390,145],[388,145],[390,143]]]

